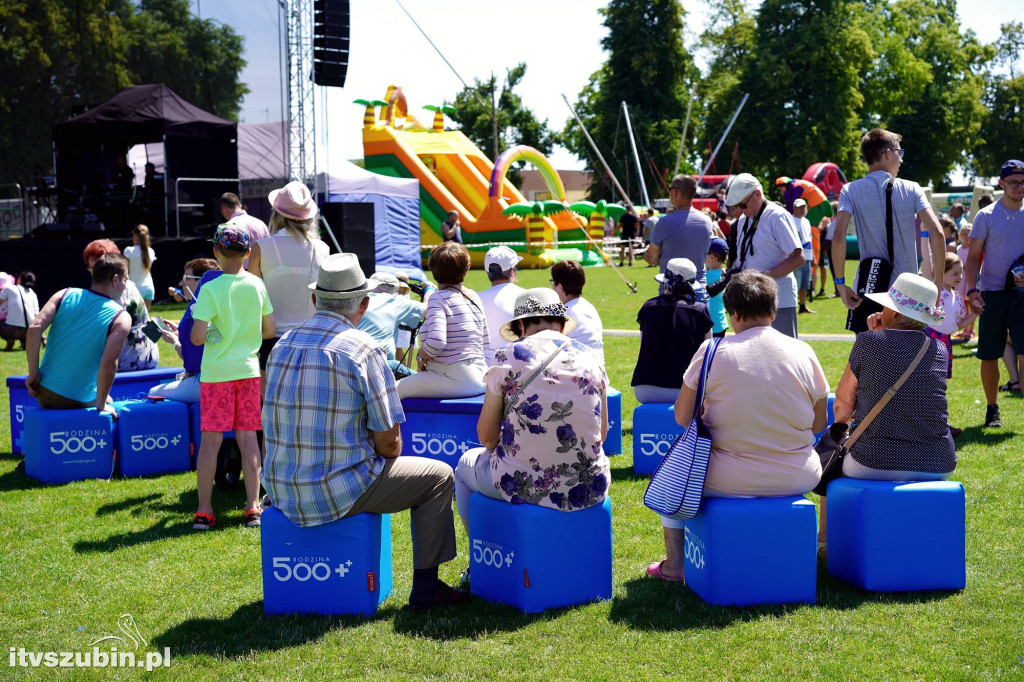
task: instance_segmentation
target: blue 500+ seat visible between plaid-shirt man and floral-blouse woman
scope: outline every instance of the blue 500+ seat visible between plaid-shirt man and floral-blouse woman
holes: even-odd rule
[[[468,398],[406,398],[401,454],[426,457],[453,469],[467,450],[479,447],[476,423],[483,395]]]

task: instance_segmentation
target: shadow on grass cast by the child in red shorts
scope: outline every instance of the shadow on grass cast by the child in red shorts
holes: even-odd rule
[[[241,510],[246,504],[245,487],[226,493],[218,493],[216,503],[225,510],[234,509],[241,522]],[[144,543],[159,542],[191,536],[196,534],[191,527],[191,513],[196,511],[196,492],[183,491],[175,501],[165,501],[163,495],[155,493],[137,498],[129,498],[122,502],[104,505],[96,510],[96,516],[104,516],[118,512],[128,512],[132,516],[163,514],[156,523],[142,530],[131,530],[113,535],[105,540],[81,540],[72,545],[72,549],[80,554],[93,552],[116,552],[126,547],[134,547]],[[227,514],[217,518],[217,525],[211,532],[217,532],[224,527],[230,527],[236,519],[227,518]]]

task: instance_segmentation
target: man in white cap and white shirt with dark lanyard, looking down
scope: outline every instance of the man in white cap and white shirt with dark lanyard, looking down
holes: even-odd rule
[[[797,279],[793,272],[804,264],[804,249],[797,225],[784,208],[764,198],[761,182],[750,173],[732,179],[725,199],[739,211],[734,270],[761,270],[778,285],[778,313],[772,321],[776,331],[797,337]]]

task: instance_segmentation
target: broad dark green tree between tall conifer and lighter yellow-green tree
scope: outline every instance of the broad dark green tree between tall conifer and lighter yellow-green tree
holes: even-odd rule
[[[729,4],[735,3],[726,4],[726,15],[736,12]],[[705,124],[709,141],[717,141],[712,136],[725,130],[749,93],[723,145],[739,143],[743,170],[767,179],[799,176],[818,161],[855,168],[861,74],[874,55],[863,19],[856,0],[765,0],[753,39],[736,36],[734,54],[713,62],[721,74],[731,58],[735,75],[726,74],[714,92]]]

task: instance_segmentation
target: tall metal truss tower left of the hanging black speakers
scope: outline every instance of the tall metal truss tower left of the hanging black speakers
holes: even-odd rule
[[[313,0],[287,2],[288,171],[293,180],[312,184],[316,173]]]

